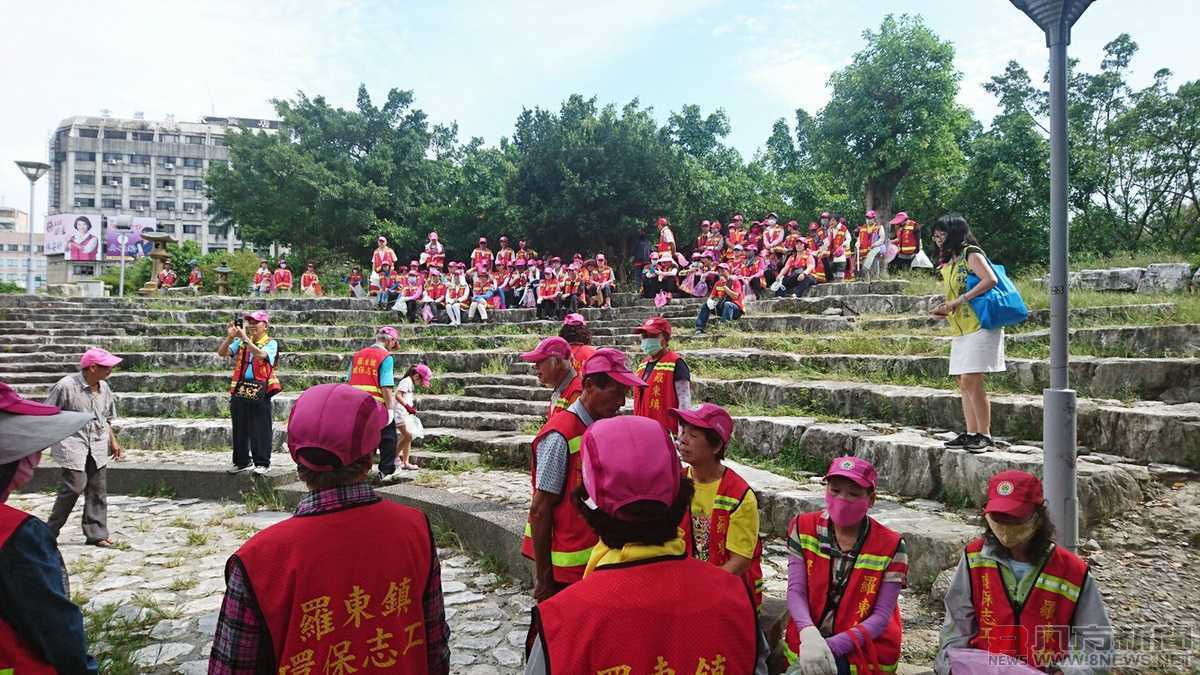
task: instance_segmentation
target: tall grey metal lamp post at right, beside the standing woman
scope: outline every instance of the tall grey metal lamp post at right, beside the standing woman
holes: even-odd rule
[[[1093,0],[1010,0],[1045,32],[1050,48],[1050,388],[1042,392],[1043,479],[1058,544],[1079,545],[1075,390],[1067,351],[1067,46]]]

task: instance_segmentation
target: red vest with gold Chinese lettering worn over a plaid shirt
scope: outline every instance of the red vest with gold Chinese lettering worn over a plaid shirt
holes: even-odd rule
[[[379,501],[289,518],[235,555],[281,670],[427,671],[422,601],[434,552],[421,512]]]

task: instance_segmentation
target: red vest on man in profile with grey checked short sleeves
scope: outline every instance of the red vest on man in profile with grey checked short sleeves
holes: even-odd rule
[[[529,473],[533,489],[538,489],[538,443],[551,431],[558,431],[566,438],[570,456],[566,460],[566,482],[563,484],[563,498],[554,507],[553,528],[550,538],[550,562],[553,566],[554,581],[574,584],[583,578],[583,568],[592,557],[592,546],[599,540],[592,527],[575,508],[571,495],[575,488],[583,484],[583,456],[580,444],[587,426],[572,412],[564,412],[550,418],[538,436],[533,440],[533,452],[529,461]],[[524,539],[521,542],[521,555],[533,560],[533,526],[526,522]]]

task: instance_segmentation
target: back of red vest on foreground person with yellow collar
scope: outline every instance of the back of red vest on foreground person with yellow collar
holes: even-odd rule
[[[745,587],[695,558],[598,567],[534,621],[547,673],[754,673],[757,657]]]

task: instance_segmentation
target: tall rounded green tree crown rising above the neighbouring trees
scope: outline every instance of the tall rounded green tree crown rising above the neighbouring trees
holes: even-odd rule
[[[829,78],[817,136],[828,171],[862,190],[865,208],[890,217],[906,177],[923,167],[936,173],[961,155],[971,115],[954,101],[962,77],[954,47],[920,17],[889,14],[863,41],[866,47]]]

